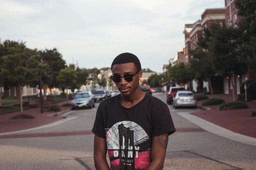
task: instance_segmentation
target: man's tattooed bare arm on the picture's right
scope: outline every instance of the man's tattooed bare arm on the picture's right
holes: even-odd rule
[[[168,133],[153,137],[151,155],[150,155],[151,163],[147,167],[147,170],[163,169],[163,163],[164,163],[167,144],[168,144]]]

